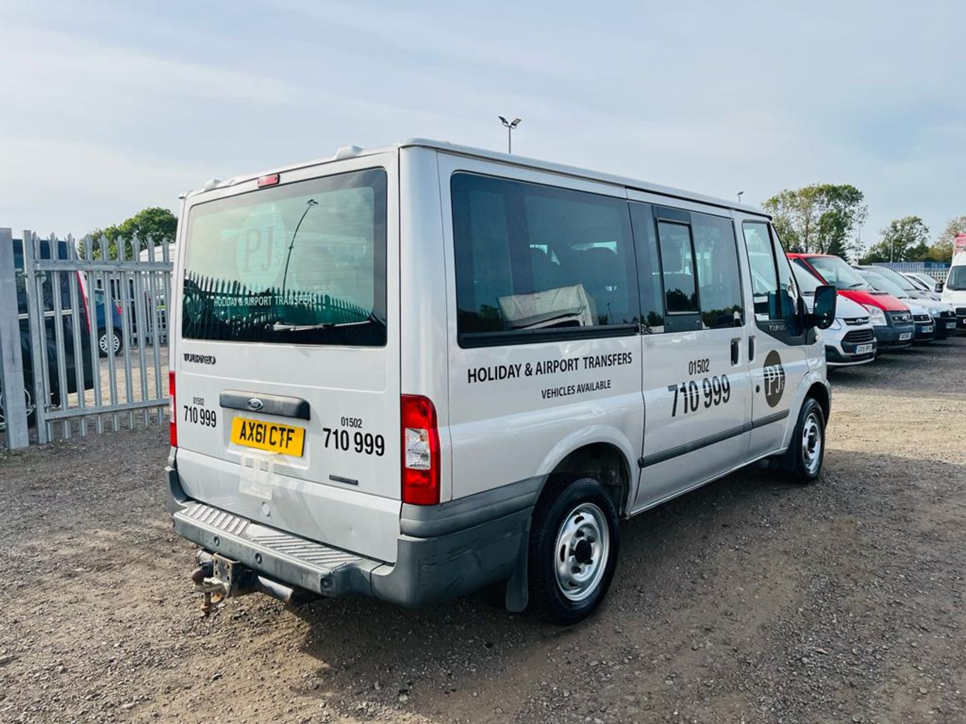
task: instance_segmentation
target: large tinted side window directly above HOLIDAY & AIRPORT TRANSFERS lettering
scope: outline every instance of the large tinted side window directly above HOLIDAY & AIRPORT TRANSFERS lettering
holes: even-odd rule
[[[626,201],[468,173],[450,190],[461,335],[637,322]]]

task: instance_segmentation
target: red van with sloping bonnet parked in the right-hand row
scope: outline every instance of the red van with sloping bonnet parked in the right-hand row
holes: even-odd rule
[[[839,296],[851,299],[868,310],[875,330],[878,351],[912,345],[916,326],[909,307],[886,292],[876,292],[859,272],[838,257],[828,254],[789,254],[793,265],[799,265],[825,284],[838,289]]]

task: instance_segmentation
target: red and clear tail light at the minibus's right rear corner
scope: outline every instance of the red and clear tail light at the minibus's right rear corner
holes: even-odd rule
[[[429,398],[402,396],[404,503],[440,502],[440,432]]]

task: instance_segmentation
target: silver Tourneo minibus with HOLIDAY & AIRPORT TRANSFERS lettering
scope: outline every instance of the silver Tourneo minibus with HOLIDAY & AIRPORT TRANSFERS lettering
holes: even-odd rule
[[[187,194],[175,278],[169,507],[208,597],[498,584],[574,622],[620,518],[821,469],[836,293],[809,313],[750,207],[352,147]]]

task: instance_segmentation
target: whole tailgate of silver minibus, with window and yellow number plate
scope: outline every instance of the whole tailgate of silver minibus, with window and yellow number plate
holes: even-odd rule
[[[397,159],[189,196],[171,359],[190,497],[386,562],[400,506]]]

